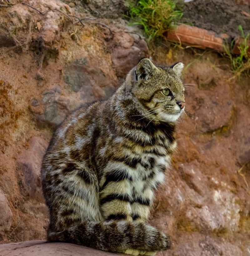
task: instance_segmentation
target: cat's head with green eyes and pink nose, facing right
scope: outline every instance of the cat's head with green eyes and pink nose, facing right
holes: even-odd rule
[[[185,97],[181,80],[184,64],[172,67],[154,65],[147,58],[128,74],[126,89],[145,109],[145,117],[154,121],[175,122],[184,112]]]

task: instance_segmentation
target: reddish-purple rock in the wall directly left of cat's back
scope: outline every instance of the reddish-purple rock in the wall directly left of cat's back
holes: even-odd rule
[[[29,148],[21,152],[17,159],[22,192],[26,191],[30,197],[40,201],[43,201],[40,168],[46,148],[46,141],[40,137],[33,137],[29,142]]]

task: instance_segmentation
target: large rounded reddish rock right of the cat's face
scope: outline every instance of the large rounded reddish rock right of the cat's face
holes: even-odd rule
[[[195,72],[196,82],[184,86],[187,86],[186,94],[192,96],[192,103],[186,107],[192,125],[204,134],[227,131],[234,116],[234,106],[229,84],[219,79],[223,72],[214,71],[211,65],[199,61],[193,63],[190,72]],[[215,75],[211,76],[211,73]]]

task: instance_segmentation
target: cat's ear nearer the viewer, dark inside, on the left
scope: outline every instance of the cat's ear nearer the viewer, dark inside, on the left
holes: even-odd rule
[[[153,72],[157,70],[157,67],[153,64],[153,62],[148,58],[143,58],[139,61],[136,70],[136,80],[143,79],[147,81],[149,77],[153,75]]]

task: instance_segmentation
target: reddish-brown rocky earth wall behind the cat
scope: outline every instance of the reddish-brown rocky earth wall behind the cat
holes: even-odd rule
[[[122,0],[13,2],[0,4],[0,243],[45,239],[40,164],[53,130],[151,57],[183,61],[187,86],[178,152],[150,220],[172,237],[158,255],[249,256],[249,78],[232,78],[217,53],[149,49]]]

